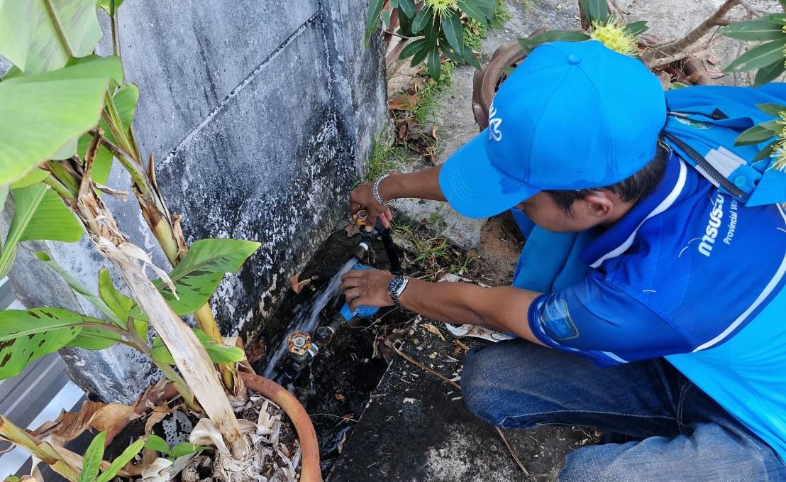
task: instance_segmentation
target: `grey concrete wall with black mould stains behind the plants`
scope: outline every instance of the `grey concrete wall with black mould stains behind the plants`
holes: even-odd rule
[[[346,211],[346,193],[387,122],[381,39],[362,43],[367,0],[127,0],[119,10],[127,80],[141,91],[134,129],[186,239],[236,237],[262,248],[227,277],[213,307],[225,334],[259,329]],[[107,39],[102,43],[106,51]],[[110,186],[127,186],[115,168]],[[120,226],[166,267],[134,201]],[[101,259],[83,239],[47,243],[95,287]],[[94,314],[20,250],[11,276],[27,306]],[[129,402],[158,376],[123,347],[63,351],[71,376]]]

